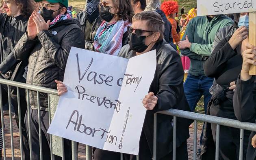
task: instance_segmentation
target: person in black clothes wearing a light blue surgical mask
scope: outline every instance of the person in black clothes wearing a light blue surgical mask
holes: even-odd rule
[[[249,42],[248,15],[249,13],[241,13],[238,23],[234,22],[233,26],[223,28],[218,32],[217,36],[221,34],[230,34],[230,36],[224,36],[225,38],[223,38],[216,46],[214,46],[209,59],[204,63],[205,75],[211,78],[215,78],[217,84],[219,85],[219,88],[215,88],[213,91],[213,96],[208,103],[207,109],[211,116],[230,118],[234,120],[239,119],[239,117],[237,117],[238,114],[236,114],[234,111],[233,106],[233,95],[235,90],[234,81],[237,80],[237,76],[241,72],[243,63],[242,53],[246,49],[245,44]],[[213,143],[216,143],[216,124],[207,124],[205,125],[205,129],[206,132],[204,132],[203,141],[209,140],[209,135],[212,135],[214,141]],[[210,131],[210,134],[207,131]],[[249,131],[244,132],[244,157],[246,154],[249,134]],[[219,136],[219,159],[239,159],[240,129],[228,126],[220,126]],[[204,141],[204,144],[201,146],[202,159],[211,157],[209,156],[210,149],[208,149],[209,152],[206,152],[207,147],[205,147],[205,144],[206,142]],[[214,151],[215,149],[211,150]],[[236,154],[234,154],[234,152]]]

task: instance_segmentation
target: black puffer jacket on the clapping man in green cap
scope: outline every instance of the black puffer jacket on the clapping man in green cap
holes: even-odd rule
[[[14,48],[17,60],[28,59],[27,84],[56,89],[54,80],[63,81],[71,47],[84,48],[85,38],[76,19],[59,21],[52,28],[42,30],[35,40],[27,33]],[[37,109],[37,93],[29,91],[30,107]],[[40,94],[40,108],[48,111],[48,96]]]

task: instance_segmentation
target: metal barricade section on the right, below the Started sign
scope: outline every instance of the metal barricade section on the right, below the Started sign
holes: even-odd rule
[[[205,114],[197,114],[193,112],[182,111],[178,109],[169,109],[166,111],[160,111],[154,114],[154,157],[153,160],[156,160],[156,120],[157,114],[165,114],[169,116],[174,116],[174,126],[173,126],[173,160],[176,159],[176,131],[177,131],[177,117],[180,118],[187,118],[194,120],[194,147],[193,147],[193,159],[196,159],[196,139],[197,139],[197,121],[208,122],[212,124],[217,124],[216,130],[216,151],[215,151],[215,160],[219,160],[219,132],[220,132],[220,125],[221,126],[229,126],[234,128],[240,129],[240,147],[239,147],[239,160],[243,160],[243,137],[244,137],[244,130],[249,131],[256,131],[256,124],[255,123],[248,123],[248,122],[240,122],[238,120],[232,120],[228,118],[221,118],[215,116],[209,116]]]

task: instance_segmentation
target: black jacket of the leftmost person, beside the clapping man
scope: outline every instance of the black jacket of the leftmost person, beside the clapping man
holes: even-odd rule
[[[13,56],[13,49],[22,35],[26,32],[28,17],[19,15],[17,17],[0,14],[0,56],[1,64],[0,78],[14,80],[25,83],[22,75],[25,72],[25,66],[28,61],[16,61]],[[7,87],[4,85],[4,88]],[[16,87],[11,86],[11,94],[16,95]],[[25,95],[25,90],[20,88],[20,94]]]

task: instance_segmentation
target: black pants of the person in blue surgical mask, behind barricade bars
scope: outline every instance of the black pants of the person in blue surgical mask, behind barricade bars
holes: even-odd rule
[[[211,124],[213,140],[216,144],[216,124]],[[243,160],[245,160],[250,131],[244,131]],[[240,146],[240,129],[228,126],[220,126],[219,133],[219,159],[238,160]]]

